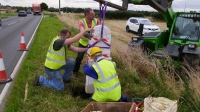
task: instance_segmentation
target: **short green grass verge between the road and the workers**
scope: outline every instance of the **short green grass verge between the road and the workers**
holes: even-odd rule
[[[79,106],[83,108],[89,102],[86,100],[83,101],[86,103],[83,103],[79,97],[69,97],[71,96],[69,85],[66,85],[65,91],[63,92],[32,85],[36,74],[45,75],[43,68],[47,49],[53,37],[57,36],[59,31],[64,27],[67,26],[63,25],[63,23],[55,17],[44,18],[42,20],[33,45],[29,49],[28,55],[15,79],[12,93],[4,110],[5,112],[71,111],[73,109],[80,111],[81,108]],[[72,34],[76,34],[77,30],[71,29],[71,32]],[[70,56],[76,56],[76,53],[70,53]],[[28,98],[24,102],[26,83],[29,84]]]

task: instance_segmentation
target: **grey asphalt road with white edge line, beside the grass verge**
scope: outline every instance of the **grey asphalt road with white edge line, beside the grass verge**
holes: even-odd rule
[[[26,47],[29,49],[42,17],[30,14],[27,17],[13,16],[2,19],[2,26],[0,26],[0,50],[6,75],[12,77],[13,80],[23,57],[28,52],[19,51],[22,32],[24,33]],[[0,84],[0,107],[12,82]]]

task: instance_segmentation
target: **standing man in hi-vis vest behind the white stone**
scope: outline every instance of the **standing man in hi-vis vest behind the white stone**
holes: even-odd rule
[[[80,31],[87,29],[87,28],[93,28],[96,25],[100,25],[100,21],[95,17],[95,13],[91,8],[86,8],[84,11],[85,18],[83,18],[78,23],[78,28]],[[86,48],[88,46],[88,40],[92,37],[92,34],[90,32],[86,32],[84,36],[79,40],[78,47]],[[73,74],[77,75],[77,72],[80,69],[81,61],[83,60],[85,52],[79,52],[76,57],[76,62],[73,70]]]

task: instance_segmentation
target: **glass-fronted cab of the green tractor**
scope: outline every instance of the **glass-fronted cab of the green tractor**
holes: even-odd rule
[[[180,42],[198,42],[200,37],[200,14],[179,14],[171,40]]]

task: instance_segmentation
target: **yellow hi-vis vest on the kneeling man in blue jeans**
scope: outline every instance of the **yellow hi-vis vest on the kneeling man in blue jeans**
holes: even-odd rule
[[[45,60],[45,66],[47,68],[53,69],[53,70],[57,70],[60,67],[62,67],[63,65],[66,64],[66,52],[67,52],[67,48],[65,51],[65,46],[63,46],[60,50],[55,51],[53,49],[53,44],[54,42],[59,39],[60,37],[55,37],[52,42],[51,45],[49,46],[47,55],[46,55],[46,60]]]

